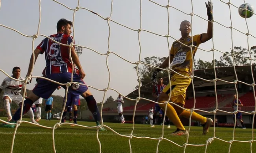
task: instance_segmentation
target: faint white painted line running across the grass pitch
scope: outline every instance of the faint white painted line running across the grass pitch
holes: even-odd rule
[[[0,132],[0,134],[13,134],[13,132]],[[21,134],[21,135],[34,135],[34,134],[52,134],[52,132],[16,132],[16,134]],[[55,132],[54,135],[84,135],[84,136],[92,136],[96,135],[95,133],[65,133],[65,132]],[[112,136],[112,135],[117,135],[115,133],[99,133],[99,135],[105,135],[105,136]],[[129,136],[129,134],[123,134]],[[134,136],[145,136],[143,134],[133,134]],[[198,136],[189,136],[189,137],[197,137]],[[218,137],[218,138],[233,138],[233,137]],[[235,138],[252,138],[252,137],[235,137]]]

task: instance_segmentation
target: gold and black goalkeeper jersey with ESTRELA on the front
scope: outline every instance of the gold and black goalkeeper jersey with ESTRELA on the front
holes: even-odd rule
[[[172,48],[170,51],[170,56],[173,56],[173,63],[172,63],[172,69],[175,71],[185,71],[189,74],[192,74],[192,65],[193,60],[192,56],[194,57],[196,54],[197,48],[195,46],[199,46],[201,44],[201,35],[195,35],[193,36],[193,45],[192,53],[191,49],[188,47],[189,45],[192,45],[192,36],[188,36],[185,39],[179,39],[180,42],[187,45],[184,46],[178,41],[173,42]]]

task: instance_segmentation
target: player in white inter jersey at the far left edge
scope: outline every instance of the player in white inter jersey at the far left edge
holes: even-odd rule
[[[18,79],[20,81],[15,81],[15,80],[7,77],[4,79],[4,81],[2,82],[2,84],[0,86],[0,93],[2,90],[4,90],[3,101],[4,101],[4,108],[7,113],[7,117],[8,117],[7,121],[10,121],[12,119],[10,103],[14,102],[14,103],[16,103],[16,105],[20,106],[22,100],[24,99],[22,97],[22,95],[20,94],[21,91],[23,90],[23,92],[25,92],[25,95],[26,95],[26,91],[24,88],[25,82],[21,82],[22,80],[25,80],[25,79],[20,77],[20,68],[19,67],[16,66],[12,69],[12,77],[15,79]],[[26,96],[25,96],[25,98],[26,98]],[[31,109],[31,107],[27,113],[31,119],[31,122],[37,123],[37,122],[35,122],[34,113],[33,113],[33,110]]]

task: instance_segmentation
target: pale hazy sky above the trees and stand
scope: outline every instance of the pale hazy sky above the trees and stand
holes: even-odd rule
[[[164,6],[168,4],[167,0],[154,1]],[[228,2],[228,0],[224,1]],[[70,8],[75,8],[77,6],[77,1],[75,0],[61,0],[59,2]],[[229,6],[219,0],[212,0],[212,3],[214,6],[214,20],[226,27],[230,27]],[[244,3],[244,0],[232,0],[231,3],[239,7]],[[256,6],[255,0],[246,0],[246,3]],[[170,0],[170,5],[186,13],[192,12],[191,0]],[[111,0],[81,0],[80,7],[93,10],[103,17],[108,17],[111,10]],[[233,27],[244,33],[248,32],[245,19],[239,16],[238,9],[231,5],[230,8]],[[197,15],[207,19],[207,9],[204,1],[193,0],[193,11]],[[72,21],[73,12],[74,11],[63,7],[52,0],[42,0],[39,34],[47,36],[55,34],[57,21],[61,18]],[[247,19],[249,33],[254,36],[256,36],[256,30],[254,28],[255,17],[256,15],[253,15],[251,18]],[[114,0],[111,19],[133,29],[139,29],[140,1]],[[170,35],[175,39],[181,37],[179,26],[183,20],[191,21],[191,16],[185,15],[174,8],[169,8]],[[26,35],[34,35],[37,33],[38,21],[38,0],[19,0],[15,2],[11,0],[1,1],[0,24],[14,28]],[[109,23],[111,28],[109,41],[110,51],[116,52],[116,54],[132,62],[138,61],[140,51],[138,32],[129,30],[112,21]],[[212,43],[211,39],[206,43],[200,44],[200,48],[210,50],[214,45],[214,48],[217,50],[223,52],[230,51],[230,48],[232,48],[231,30],[218,23],[214,23],[214,42]],[[99,16],[89,11],[79,9],[75,13],[74,26],[76,44],[92,48],[102,54],[105,54],[108,51],[109,28],[106,20],[101,19]],[[166,35],[168,33],[167,9],[150,1],[142,0],[142,29],[160,35]],[[207,21],[194,15],[192,19],[192,32],[193,35],[207,32]],[[2,26],[0,26],[0,34],[0,68],[11,75],[12,68],[19,66],[21,68],[21,76],[25,77],[30,55],[32,53],[32,38],[27,38]],[[43,36],[39,36],[35,40],[34,46],[36,47],[43,39]],[[175,40],[169,38],[169,41],[171,45]],[[163,57],[168,56],[169,54],[167,38],[165,37],[142,31],[140,33],[140,42],[142,49],[140,59],[151,56]],[[248,48],[247,36],[233,30],[233,45]],[[255,45],[256,40],[252,36],[249,36],[249,48]],[[216,59],[219,59],[220,56],[222,56],[222,53],[214,51],[214,57]],[[84,78],[86,84],[97,89],[106,88],[108,85],[106,56],[99,55],[84,48],[83,54],[79,56],[79,59],[86,72],[86,77]],[[211,61],[213,59],[213,53],[197,50],[195,59]],[[110,54],[108,65],[110,68],[111,88],[118,90],[123,95],[128,95],[135,90],[135,86],[138,85],[138,76],[133,69],[135,66],[134,64],[128,63],[114,54]],[[44,55],[39,55],[32,75],[42,76],[44,67]],[[0,72],[0,81],[5,77],[6,75]],[[28,85],[27,88],[30,90],[33,89],[34,84],[35,79],[33,79],[32,83]],[[97,102],[101,102],[103,92],[91,88],[90,90]],[[56,90],[53,95],[64,96],[64,90]],[[108,90],[105,99],[110,95],[116,99],[118,93]]]

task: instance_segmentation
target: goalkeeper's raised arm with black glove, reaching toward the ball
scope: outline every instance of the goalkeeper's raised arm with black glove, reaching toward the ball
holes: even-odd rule
[[[206,8],[207,8],[207,16],[208,16],[208,28],[207,28],[207,33],[203,33],[201,35],[201,42],[207,42],[208,40],[210,40],[212,38],[212,22],[211,20],[213,19],[212,16],[212,3],[210,1],[208,1],[208,4],[206,4]]]

